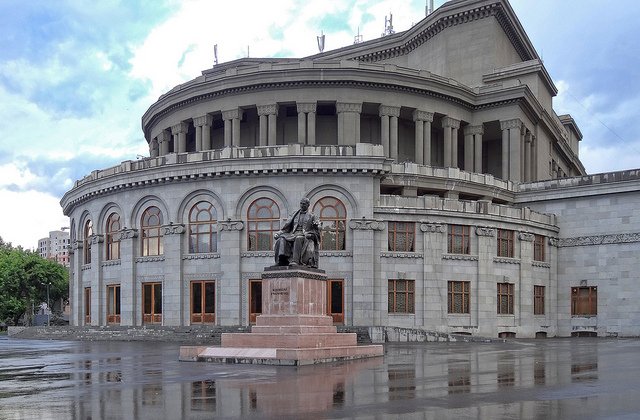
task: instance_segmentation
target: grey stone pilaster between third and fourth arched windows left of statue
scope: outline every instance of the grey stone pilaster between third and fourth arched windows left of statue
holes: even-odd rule
[[[140,291],[136,285],[137,229],[121,229],[120,239],[120,325],[136,325],[136,296]]]

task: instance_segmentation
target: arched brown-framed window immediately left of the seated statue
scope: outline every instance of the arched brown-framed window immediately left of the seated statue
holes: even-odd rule
[[[273,249],[273,234],[280,230],[280,208],[270,198],[259,198],[247,211],[247,250]]]

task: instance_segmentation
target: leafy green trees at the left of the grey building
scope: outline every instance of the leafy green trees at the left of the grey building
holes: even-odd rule
[[[26,314],[26,324],[31,325],[34,305],[47,300],[47,285],[50,302],[68,299],[67,269],[0,238],[0,320],[17,323]]]

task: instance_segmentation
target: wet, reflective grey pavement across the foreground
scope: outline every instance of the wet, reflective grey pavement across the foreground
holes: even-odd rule
[[[640,340],[387,344],[303,367],[0,336],[0,419],[640,419]]]

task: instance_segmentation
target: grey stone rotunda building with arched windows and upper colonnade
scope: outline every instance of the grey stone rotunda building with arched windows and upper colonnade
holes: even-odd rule
[[[252,324],[271,235],[306,196],[336,323],[491,337],[591,327],[571,305],[575,270],[593,260],[567,244],[640,229],[597,232],[593,208],[574,225],[554,207],[586,194],[563,195],[564,182],[600,188],[555,94],[506,0],[449,2],[406,32],[304,59],[205,70],[142,117],[148,158],[62,198],[71,323]],[[629,197],[616,196],[620,220],[637,226]],[[633,244],[603,262],[625,290]],[[612,264],[623,255],[626,268]],[[640,335],[598,286],[597,333]]]

